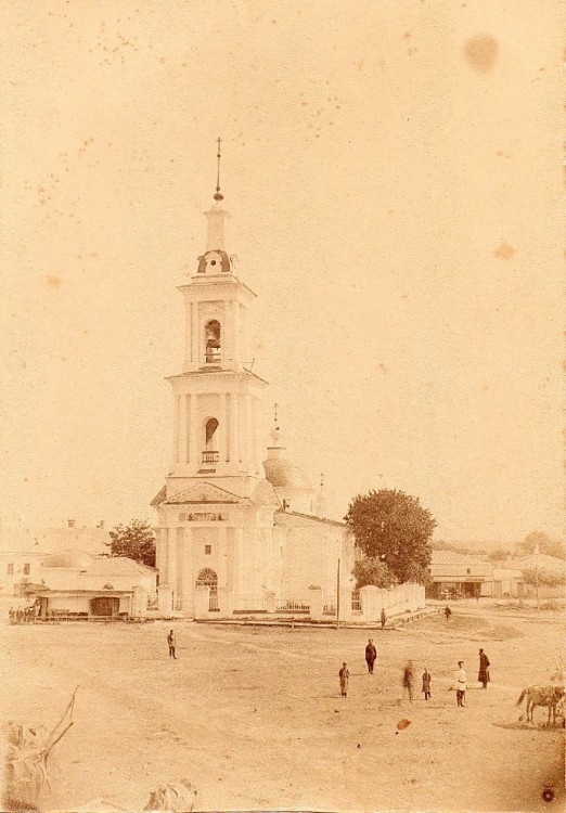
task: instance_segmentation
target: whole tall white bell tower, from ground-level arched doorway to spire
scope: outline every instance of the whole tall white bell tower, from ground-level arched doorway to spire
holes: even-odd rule
[[[206,212],[206,251],[179,288],[185,346],[182,372],[169,378],[173,454],[152,501],[159,515],[159,610],[186,617],[203,601],[206,612],[231,615],[272,590],[279,567],[273,515],[280,501],[262,466],[267,382],[250,370],[255,294],[236,278],[226,250],[229,215],[219,175]]]

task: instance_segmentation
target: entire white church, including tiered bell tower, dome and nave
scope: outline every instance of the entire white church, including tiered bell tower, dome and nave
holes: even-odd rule
[[[256,295],[227,251],[219,180],[206,218],[206,250],[179,287],[185,343],[182,371],[169,378],[173,460],[152,501],[159,603],[185,618],[226,618],[306,611],[316,596],[334,614],[337,591],[346,598],[353,586],[353,538],[324,518],[321,491],[285,454],[276,415],[266,449],[268,384],[246,361]]]

